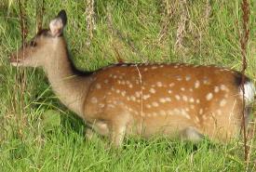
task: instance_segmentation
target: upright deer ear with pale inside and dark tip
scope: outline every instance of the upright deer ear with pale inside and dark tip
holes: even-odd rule
[[[51,20],[49,23],[49,29],[51,35],[56,37],[60,36],[63,33],[63,28],[67,23],[67,15],[65,10],[61,10],[57,17],[54,20]]]

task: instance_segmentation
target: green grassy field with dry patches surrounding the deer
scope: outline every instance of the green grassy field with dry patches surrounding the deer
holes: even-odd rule
[[[183,2],[183,3],[182,3]],[[38,2],[37,2],[38,3]],[[36,33],[36,1],[24,6],[28,39]],[[78,68],[114,63],[189,62],[241,70],[240,1],[45,0],[43,25],[62,8],[65,35]],[[256,82],[256,1],[250,1],[248,68]],[[91,18],[92,17],[92,18]],[[88,20],[87,20],[88,19]],[[90,22],[89,22],[90,21]],[[88,26],[90,23],[90,27]],[[122,150],[97,135],[85,139],[84,124],[52,93],[41,70],[16,69],[8,56],[21,44],[19,6],[0,2],[0,171],[256,171],[256,140],[198,144],[128,138]],[[254,108],[254,116],[255,116]],[[53,117],[52,117],[53,116]],[[255,123],[251,124],[255,126]]]

